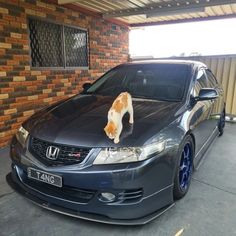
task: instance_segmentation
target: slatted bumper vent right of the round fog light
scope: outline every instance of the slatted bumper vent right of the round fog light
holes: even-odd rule
[[[118,200],[123,203],[131,203],[139,201],[143,196],[143,190],[140,189],[132,189],[125,190],[118,194]]]

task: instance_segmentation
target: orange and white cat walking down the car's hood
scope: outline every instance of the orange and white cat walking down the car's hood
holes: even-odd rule
[[[125,113],[129,113],[129,123],[134,123],[134,111],[132,105],[131,95],[127,92],[121,93],[108,112],[108,122],[104,131],[110,139],[114,139],[114,143],[119,143],[120,134],[122,132],[123,124],[122,118]]]

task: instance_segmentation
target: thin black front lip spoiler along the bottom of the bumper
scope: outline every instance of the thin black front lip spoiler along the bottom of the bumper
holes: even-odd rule
[[[171,207],[174,206],[174,203],[164,207],[150,215],[144,216],[142,218],[138,219],[111,219],[102,215],[96,215],[96,214],[90,214],[90,213],[84,213],[84,212],[78,212],[78,211],[73,211],[67,208],[60,207],[58,205],[49,203],[47,201],[43,201],[42,199],[30,194],[29,192],[25,191],[23,188],[20,187],[21,183],[16,183],[11,176],[11,173],[9,173],[6,176],[7,183],[19,194],[23,195],[26,197],[28,200],[33,202],[34,204],[43,207],[47,210],[54,211],[63,215],[67,216],[72,216],[84,220],[89,220],[89,221],[95,221],[99,223],[105,223],[105,224],[113,224],[113,225],[144,225],[149,223],[150,221],[156,219],[160,215],[162,215],[164,212],[169,210]]]

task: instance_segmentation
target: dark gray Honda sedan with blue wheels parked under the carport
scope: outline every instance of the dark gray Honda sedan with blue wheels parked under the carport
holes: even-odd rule
[[[134,124],[120,142],[104,133],[118,94],[132,95]],[[119,65],[84,91],[23,123],[11,143],[8,183],[52,211],[111,224],[145,224],[187,193],[212,140],[223,134],[223,90],[206,65]]]

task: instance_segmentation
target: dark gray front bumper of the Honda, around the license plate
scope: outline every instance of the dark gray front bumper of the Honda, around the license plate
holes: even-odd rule
[[[9,185],[37,205],[65,215],[109,224],[139,225],[150,222],[173,206],[174,167],[171,159],[165,156],[116,165],[113,169],[108,165],[87,166],[77,171],[72,167],[38,165],[18,145],[12,148],[11,158]],[[28,167],[62,176],[63,188],[29,180]],[[98,197],[101,192],[114,193],[116,201],[101,202]]]

